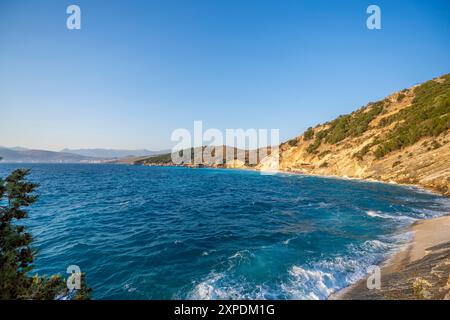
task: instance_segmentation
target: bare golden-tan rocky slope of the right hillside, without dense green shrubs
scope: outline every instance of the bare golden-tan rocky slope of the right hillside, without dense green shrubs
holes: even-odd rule
[[[436,97],[427,97],[428,100],[433,103],[444,96],[448,101],[450,77],[447,75],[433,81],[439,84],[447,82],[447,87],[441,88]],[[370,120],[363,127],[365,130],[355,130],[355,134],[349,133],[341,140],[339,138],[342,136],[337,139],[328,136],[318,144],[318,137],[323,132],[328,135],[330,132],[346,134],[345,130],[351,132],[352,128],[345,127],[341,131],[335,128],[334,131],[330,130],[332,126],[340,125],[334,120],[310,128],[302,136],[283,143],[280,146],[280,169],[304,174],[412,184],[450,196],[450,122],[447,123],[447,129],[438,135],[433,132],[427,135],[420,127],[423,124],[418,124],[417,130],[422,130],[420,133],[423,135],[420,139],[381,156],[377,153],[383,143],[393,139],[393,132],[399,131],[398,127],[404,121],[402,116],[410,112],[408,108],[416,108],[414,103],[417,87],[419,86],[394,93],[380,102],[370,103],[349,116],[361,118],[362,127],[366,125],[363,121]],[[380,106],[381,111],[374,111]],[[430,112],[429,109],[433,111],[432,108],[430,106],[426,112]],[[450,105],[446,104],[444,108],[443,115],[441,109],[441,118],[450,114]],[[347,123],[351,124],[352,121],[345,122]],[[260,164],[258,168],[264,169],[264,164]]]

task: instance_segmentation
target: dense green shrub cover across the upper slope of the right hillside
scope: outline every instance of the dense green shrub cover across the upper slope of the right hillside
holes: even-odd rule
[[[398,101],[405,98],[403,90]],[[450,129],[450,74],[442,76],[439,81],[428,81],[414,89],[411,106],[382,119],[379,128],[395,123],[387,134],[365,146],[355,157],[362,160],[371,147],[376,147],[374,154],[382,158],[395,150],[412,145],[424,137],[437,137]],[[328,122],[329,128],[315,134],[307,152],[316,153],[322,142],[336,144],[348,137],[358,137],[366,132],[370,122],[384,112],[386,100],[378,101],[369,108],[362,108],[349,115],[342,115]]]

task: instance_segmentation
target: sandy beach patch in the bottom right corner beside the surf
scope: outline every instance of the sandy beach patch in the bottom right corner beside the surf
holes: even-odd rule
[[[381,289],[367,289],[367,279],[332,300],[450,299],[450,216],[417,221],[413,239],[381,266]]]

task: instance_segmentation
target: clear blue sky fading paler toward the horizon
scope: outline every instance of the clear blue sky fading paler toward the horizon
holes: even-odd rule
[[[0,145],[162,149],[194,120],[285,140],[449,72],[448,0],[0,0]]]

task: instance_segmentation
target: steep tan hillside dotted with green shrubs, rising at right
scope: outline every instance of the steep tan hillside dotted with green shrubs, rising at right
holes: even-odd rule
[[[282,170],[414,184],[450,195],[450,74],[309,128]]]

